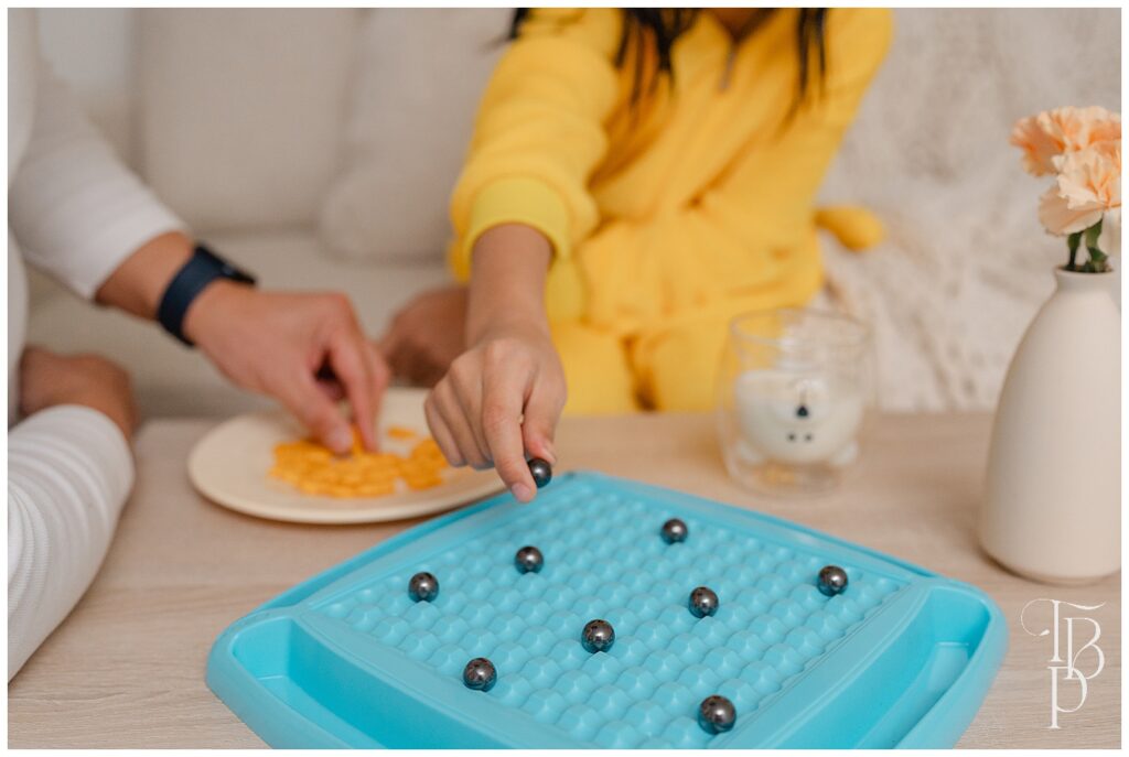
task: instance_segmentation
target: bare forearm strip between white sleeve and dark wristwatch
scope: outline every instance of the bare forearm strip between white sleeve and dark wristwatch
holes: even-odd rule
[[[95,300],[152,319],[168,283],[192,257],[192,239],[180,231],[154,237],[119,265]]]

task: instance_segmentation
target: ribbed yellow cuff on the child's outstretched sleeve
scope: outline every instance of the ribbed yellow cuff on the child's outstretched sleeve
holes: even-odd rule
[[[466,232],[452,246],[450,267],[455,278],[471,275],[471,253],[483,234],[502,223],[524,223],[545,235],[554,259],[569,256],[568,209],[560,195],[540,179],[500,178],[487,184],[474,196]]]

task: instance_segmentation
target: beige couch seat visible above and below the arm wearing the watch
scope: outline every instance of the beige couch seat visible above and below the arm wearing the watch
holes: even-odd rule
[[[374,337],[409,299],[449,282],[439,263],[377,267],[334,261],[310,232],[212,235],[208,243],[255,273],[264,288],[344,292]],[[33,276],[33,284],[28,342],[119,361],[133,376],[143,416],[229,415],[270,404],[234,388],[203,355],[156,324],[97,308],[41,275]]]

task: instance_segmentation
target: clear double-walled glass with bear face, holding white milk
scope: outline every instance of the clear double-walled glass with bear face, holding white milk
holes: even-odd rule
[[[734,318],[717,385],[729,474],[768,494],[832,488],[859,455],[872,362],[869,329],[847,316],[782,308]]]

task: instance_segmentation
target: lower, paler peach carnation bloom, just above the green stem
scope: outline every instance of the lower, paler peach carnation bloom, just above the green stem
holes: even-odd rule
[[[1054,185],[1039,201],[1039,220],[1053,235],[1083,231],[1121,208],[1121,141],[1066,152],[1053,161]]]

